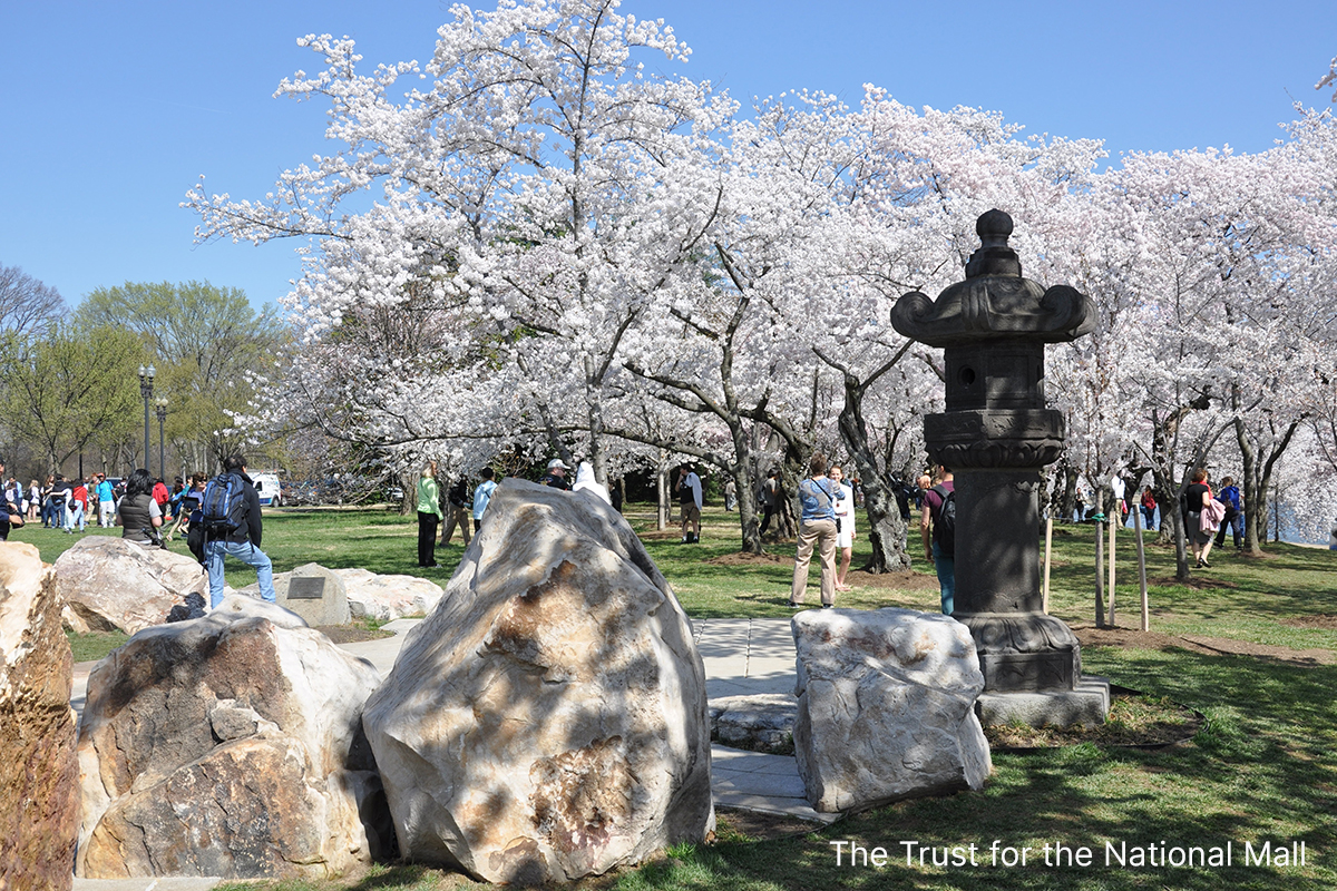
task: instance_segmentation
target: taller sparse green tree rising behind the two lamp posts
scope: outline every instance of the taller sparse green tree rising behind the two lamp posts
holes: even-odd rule
[[[167,435],[190,469],[206,469],[243,445],[235,414],[250,410],[251,374],[283,347],[273,309],[251,309],[245,293],[207,282],[126,282],[84,298],[76,319],[115,325],[143,342],[168,399]]]

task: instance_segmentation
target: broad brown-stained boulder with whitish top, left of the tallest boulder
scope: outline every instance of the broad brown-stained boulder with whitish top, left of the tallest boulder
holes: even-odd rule
[[[88,679],[78,875],[312,879],[393,854],[361,727],[377,681],[245,596],[139,632]]]

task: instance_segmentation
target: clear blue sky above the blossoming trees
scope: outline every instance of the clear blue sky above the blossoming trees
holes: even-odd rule
[[[193,243],[179,203],[259,198],[326,151],[324,107],[273,99],[310,32],[349,35],[364,64],[427,61],[437,0],[0,0],[0,263],[71,305],[126,281],[210,281],[275,302],[291,242]],[[480,4],[479,8],[491,8]],[[816,9],[821,12],[816,12]],[[683,73],[735,98],[864,83],[910,106],[1001,111],[1028,132],[1123,151],[1267,148],[1337,55],[1337,4],[627,0],[693,48]]]

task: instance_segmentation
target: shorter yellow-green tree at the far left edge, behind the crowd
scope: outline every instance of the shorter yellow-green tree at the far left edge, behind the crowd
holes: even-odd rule
[[[139,423],[135,370],[144,350],[134,334],[53,325],[45,335],[11,335],[0,351],[0,415],[40,450],[48,472]]]

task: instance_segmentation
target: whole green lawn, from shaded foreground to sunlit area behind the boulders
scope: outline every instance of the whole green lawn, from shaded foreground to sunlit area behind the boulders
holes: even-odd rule
[[[775,561],[730,558],[738,532],[733,514],[707,509],[702,545],[681,545],[652,528],[652,509],[632,505],[628,520],[695,618],[787,616],[792,545],[777,545]],[[416,522],[380,510],[266,512],[265,550],[275,570],[317,561],[365,566],[378,573],[427,576],[445,584],[463,549],[439,549],[441,569],[417,568]],[[119,530],[118,530],[119,532]],[[24,529],[53,560],[72,537]],[[185,550],[183,544],[174,549]],[[836,826],[770,842],[741,838],[721,826],[721,840],[682,847],[627,871],[612,887],[639,890],[800,888],[1300,888],[1337,887],[1337,553],[1269,545],[1262,560],[1215,552],[1214,568],[1195,585],[1170,581],[1174,552],[1147,548],[1152,580],[1151,631],[1165,637],[1147,648],[1086,647],[1087,672],[1154,696],[1167,696],[1206,713],[1189,743],[1143,751],[1080,744],[1035,753],[997,753],[995,773],[979,793],[904,801],[852,816]],[[1094,624],[1094,533],[1063,526],[1055,533],[1051,612],[1078,627]],[[1120,532],[1118,625],[1138,627],[1139,592],[1134,537]],[[856,549],[854,566],[865,554]],[[921,570],[916,566],[916,570]],[[254,574],[229,572],[242,586]],[[1207,580],[1203,582],[1202,580]],[[816,600],[813,569],[810,600]],[[853,573],[856,590],[838,605],[937,608],[928,580],[874,580]],[[1269,656],[1191,652],[1181,635],[1282,648]],[[1147,639],[1152,640],[1152,639]],[[107,644],[103,644],[107,645]],[[1308,659],[1286,651],[1313,651]],[[992,866],[989,850],[1029,847],[1023,867]],[[1245,864],[1245,843],[1305,842],[1304,867]],[[834,842],[885,848],[881,867],[837,866]],[[904,842],[925,847],[976,846],[977,866],[905,864]],[[1175,868],[1106,866],[1106,843],[1116,848],[1233,846],[1233,866]],[[1044,846],[1087,847],[1088,866],[1046,866]],[[964,852],[964,851],[963,851]],[[476,887],[460,876],[417,866],[377,867],[352,884],[283,883],[285,891],[353,887],[406,891]],[[607,882],[587,887],[608,887]]]

